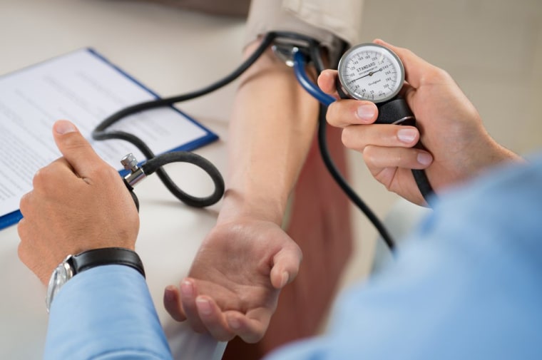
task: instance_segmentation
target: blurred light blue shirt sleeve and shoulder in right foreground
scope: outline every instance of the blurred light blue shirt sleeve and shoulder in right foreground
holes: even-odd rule
[[[268,360],[542,359],[542,158],[442,195],[325,336]]]

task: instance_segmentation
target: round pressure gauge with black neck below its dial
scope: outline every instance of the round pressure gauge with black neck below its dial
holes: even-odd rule
[[[414,125],[414,115],[397,95],[404,83],[404,67],[389,48],[362,43],[339,61],[337,92],[341,98],[372,101],[379,106],[376,123]]]

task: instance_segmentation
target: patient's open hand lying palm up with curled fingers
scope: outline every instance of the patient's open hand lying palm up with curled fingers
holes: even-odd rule
[[[274,222],[220,223],[205,238],[189,277],[165,289],[165,309],[219,341],[235,336],[259,341],[280,289],[296,277],[301,259],[300,248]]]

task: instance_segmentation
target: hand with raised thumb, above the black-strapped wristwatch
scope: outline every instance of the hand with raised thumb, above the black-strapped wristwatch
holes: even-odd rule
[[[60,120],[53,136],[63,157],[39,170],[21,197],[19,258],[41,282],[68,255],[101,247],[133,250],[139,217],[118,172],[76,127]]]

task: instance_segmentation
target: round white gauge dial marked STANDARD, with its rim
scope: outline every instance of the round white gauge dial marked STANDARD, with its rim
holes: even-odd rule
[[[339,61],[339,83],[352,98],[382,103],[394,98],[404,82],[404,67],[389,48],[362,43]]]

